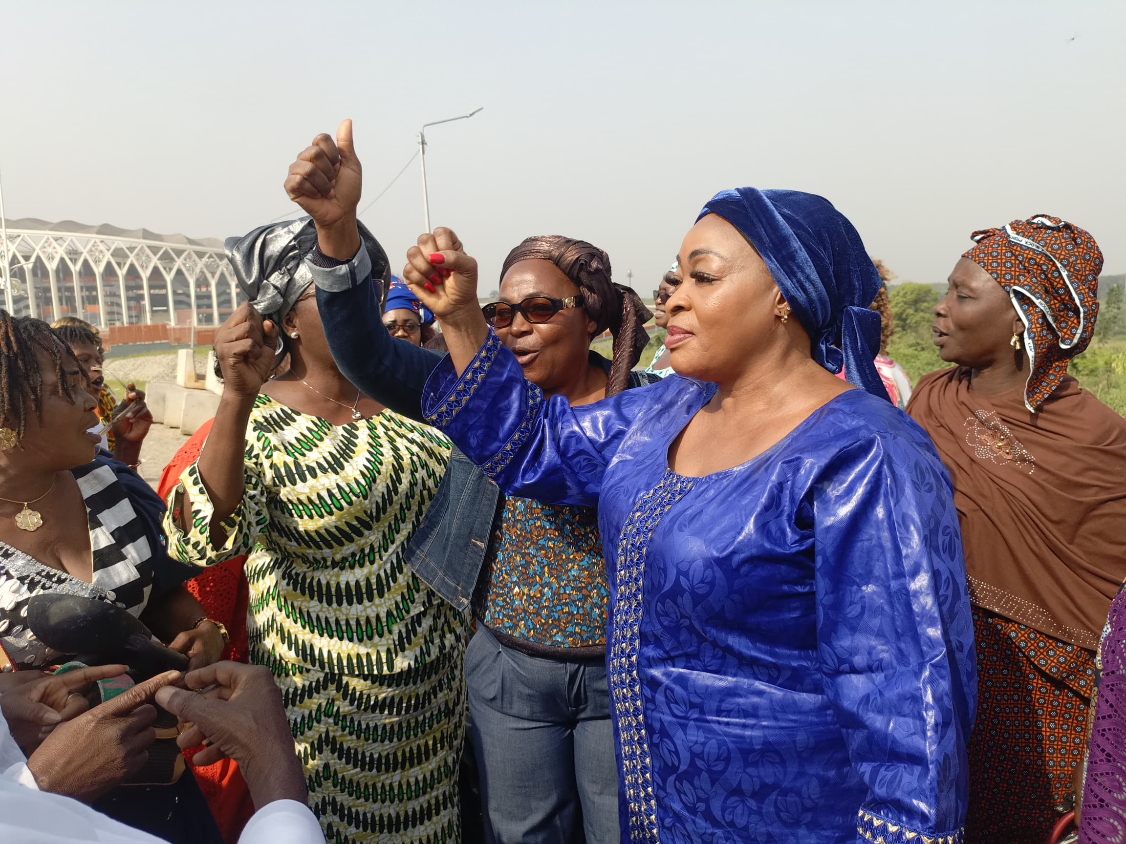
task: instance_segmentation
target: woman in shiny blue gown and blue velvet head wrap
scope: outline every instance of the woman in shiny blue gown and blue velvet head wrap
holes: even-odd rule
[[[450,352],[428,415],[506,492],[598,506],[623,838],[959,842],[957,514],[873,366],[879,279],[851,224],[806,194],[715,197],[667,303],[677,375],[580,407],[525,380],[475,261],[430,241],[404,270]]]

